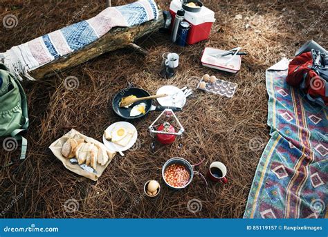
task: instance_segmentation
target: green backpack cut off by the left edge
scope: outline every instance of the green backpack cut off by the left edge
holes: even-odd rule
[[[27,129],[28,110],[23,87],[8,68],[0,64],[0,137],[8,137],[3,140],[3,148],[7,151],[16,149],[17,140],[21,140],[21,160],[25,159],[27,140],[20,133]]]

